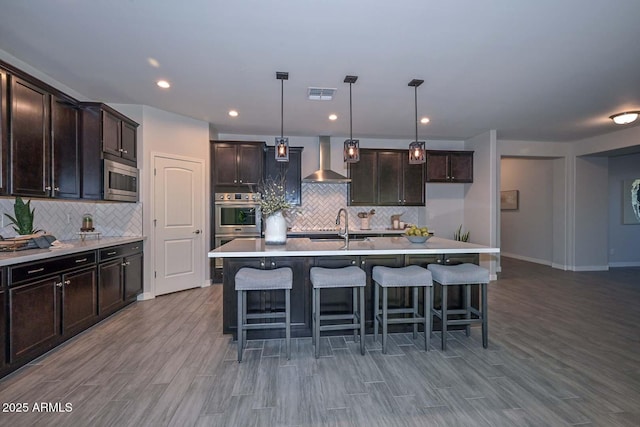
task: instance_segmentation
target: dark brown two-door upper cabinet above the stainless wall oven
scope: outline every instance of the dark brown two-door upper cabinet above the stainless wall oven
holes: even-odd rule
[[[213,141],[213,185],[258,184],[262,179],[264,147],[264,142]]]

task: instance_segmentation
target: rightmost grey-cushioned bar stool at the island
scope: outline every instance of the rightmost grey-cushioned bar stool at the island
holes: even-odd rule
[[[471,334],[471,325],[482,324],[482,346],[488,345],[487,325],[487,284],[489,283],[489,270],[475,264],[465,263],[458,265],[429,264],[427,266],[433,275],[433,281],[442,287],[442,307],[440,310],[432,309],[433,314],[442,320],[442,351],[447,349],[447,328],[453,325],[466,325],[465,332]],[[471,306],[471,287],[480,286],[482,309]],[[448,286],[463,286],[463,301],[461,309],[449,310],[447,308]],[[464,314],[463,319],[449,319],[449,315]],[[473,316],[477,316],[474,318]]]

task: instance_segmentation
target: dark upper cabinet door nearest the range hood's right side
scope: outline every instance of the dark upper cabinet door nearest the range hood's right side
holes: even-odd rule
[[[360,150],[360,161],[349,163],[349,205],[372,206],[378,194],[378,167],[375,151]]]

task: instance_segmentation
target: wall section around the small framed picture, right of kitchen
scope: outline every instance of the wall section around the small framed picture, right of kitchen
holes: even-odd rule
[[[500,249],[540,264],[553,260],[554,160],[502,158],[500,189],[518,190],[518,210],[500,212]]]

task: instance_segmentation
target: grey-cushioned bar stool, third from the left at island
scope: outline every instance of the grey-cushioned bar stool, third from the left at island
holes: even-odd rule
[[[374,280],[373,292],[373,340],[378,340],[378,326],[382,325],[382,353],[387,353],[387,328],[390,324],[413,324],[413,339],[418,337],[418,324],[424,324],[424,349],[429,351],[431,338],[431,299],[433,280],[426,268],[417,265],[406,267],[373,267],[371,277]],[[382,288],[382,309],[380,308],[380,288]],[[388,308],[388,288],[411,288],[413,290],[412,307]],[[424,314],[418,312],[418,289],[424,291]],[[427,292],[427,288],[429,291]],[[394,317],[389,318],[389,315]],[[395,317],[400,314],[401,316]],[[405,317],[411,314],[411,317]]]

